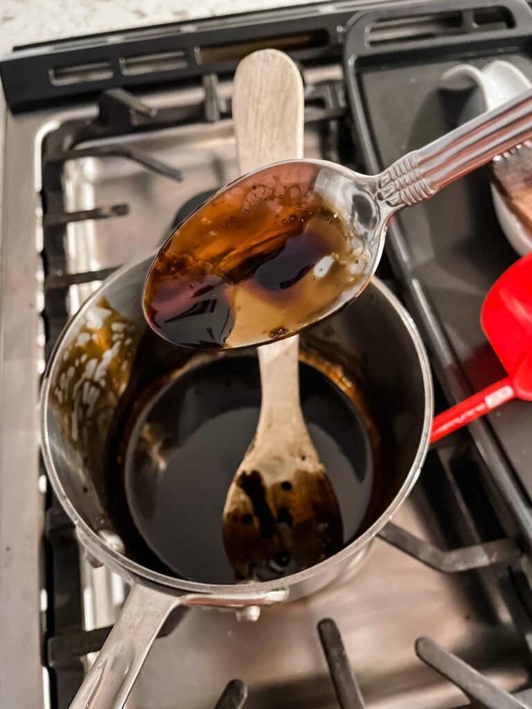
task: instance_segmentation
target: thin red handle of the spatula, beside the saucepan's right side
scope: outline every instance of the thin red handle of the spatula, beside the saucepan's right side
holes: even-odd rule
[[[480,418],[484,413],[501,406],[502,403],[515,398],[516,393],[509,376],[501,379],[486,389],[482,389],[473,396],[460,401],[447,411],[443,411],[434,418],[432,423],[431,443],[440,440],[458,428],[471,423],[475,418]]]

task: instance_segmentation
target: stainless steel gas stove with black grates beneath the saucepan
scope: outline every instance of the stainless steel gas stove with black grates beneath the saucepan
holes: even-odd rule
[[[436,1],[414,19],[408,6],[375,25],[370,41],[451,31],[453,17]],[[1,242],[1,707],[65,709],[127,592],[84,557],[40,462],[39,378],[60,330],[102,279],[160,245],[237,177],[231,77],[251,50],[277,46],[299,63],[306,157],[364,168],[342,38],[367,7],[353,0],[111,33],[21,48],[2,62],[11,111]],[[499,26],[497,13],[486,16],[486,26]],[[378,274],[408,296],[386,257]],[[439,387],[437,395],[443,403]],[[257,623],[192,610],[163,628],[129,709],[244,700],[247,709],[532,706],[532,572],[516,511],[525,493],[518,484],[514,493],[515,506],[497,493],[489,455],[467,433],[431,450],[393,524],[331,586],[269,608]]]

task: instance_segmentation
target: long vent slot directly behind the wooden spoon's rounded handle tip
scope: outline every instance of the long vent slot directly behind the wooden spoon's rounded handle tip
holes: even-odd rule
[[[294,50],[314,49],[326,47],[330,44],[327,30],[314,30],[292,35],[279,35],[261,37],[248,42],[233,42],[231,44],[211,45],[196,50],[198,64],[213,64],[218,62],[240,61],[251,52],[260,49],[279,49],[284,52]]]

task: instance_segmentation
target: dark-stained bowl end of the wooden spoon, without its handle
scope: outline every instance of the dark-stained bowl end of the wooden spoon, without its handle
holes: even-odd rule
[[[336,493],[309,435],[246,454],[228,492],[223,540],[240,579],[297,574],[343,547]]]

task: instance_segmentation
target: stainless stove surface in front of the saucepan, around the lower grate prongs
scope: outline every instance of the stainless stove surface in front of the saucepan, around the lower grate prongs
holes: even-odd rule
[[[394,521],[423,537],[414,495]],[[343,579],[310,598],[270,608],[256,624],[228,613],[192,610],[172,635],[155,643],[133,698],[142,709],[214,706],[228,679],[249,687],[246,709],[337,707],[316,623],[336,620],[368,709],[444,709],[464,703],[414,653],[428,635],[467,657],[500,688],[526,681],[519,646],[475,608],[464,579],[444,576],[375,540]]]

